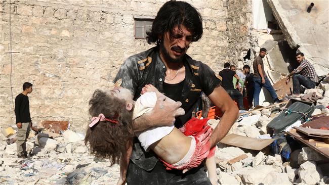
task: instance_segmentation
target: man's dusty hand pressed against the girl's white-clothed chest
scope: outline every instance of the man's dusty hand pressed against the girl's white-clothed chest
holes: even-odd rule
[[[175,123],[175,117],[185,114],[184,109],[180,108],[181,102],[167,99],[165,96],[158,97],[153,110],[145,114],[154,126],[171,126]]]

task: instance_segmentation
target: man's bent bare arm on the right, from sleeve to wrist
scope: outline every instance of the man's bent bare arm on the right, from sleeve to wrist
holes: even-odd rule
[[[211,147],[214,147],[222,140],[239,117],[239,109],[221,86],[216,87],[212,94],[209,95],[209,98],[224,113],[210,138]]]

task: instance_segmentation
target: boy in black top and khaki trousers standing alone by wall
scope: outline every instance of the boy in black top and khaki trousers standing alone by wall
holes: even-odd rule
[[[16,141],[18,158],[27,158],[26,140],[32,126],[30,105],[27,95],[30,94],[32,90],[32,84],[25,82],[23,84],[23,92],[15,98],[15,115],[18,128]]]

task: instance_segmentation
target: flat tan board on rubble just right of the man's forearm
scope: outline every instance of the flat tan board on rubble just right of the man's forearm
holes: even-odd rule
[[[270,145],[274,139],[258,139],[252,137],[245,137],[242,135],[237,134],[229,134],[226,135],[220,143],[231,145],[235,147],[241,147],[244,149],[251,149],[251,150],[262,150],[263,148]]]

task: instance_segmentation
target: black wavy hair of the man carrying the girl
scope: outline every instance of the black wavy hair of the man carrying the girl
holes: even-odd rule
[[[156,45],[159,45],[159,36],[163,37],[169,31],[173,38],[174,28],[178,26],[181,31],[181,25],[192,33],[193,42],[201,38],[203,30],[199,12],[186,2],[169,1],[162,5],[153,21],[152,29],[146,32],[147,42],[149,44],[156,42]]]

